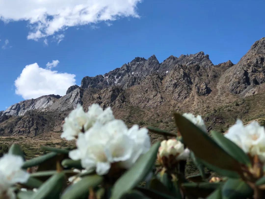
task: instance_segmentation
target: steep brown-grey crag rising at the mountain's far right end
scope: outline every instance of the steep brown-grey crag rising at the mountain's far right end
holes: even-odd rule
[[[249,90],[256,85],[264,83],[264,59],[265,37],[256,41],[240,61],[228,71],[231,78],[227,89],[233,94],[240,94],[247,88]]]

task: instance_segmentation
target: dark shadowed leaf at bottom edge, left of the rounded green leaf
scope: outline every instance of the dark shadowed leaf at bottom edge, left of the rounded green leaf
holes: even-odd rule
[[[188,197],[195,198],[205,198],[209,196],[215,189],[219,188],[223,185],[223,183],[182,183],[182,187],[184,188],[185,194]]]

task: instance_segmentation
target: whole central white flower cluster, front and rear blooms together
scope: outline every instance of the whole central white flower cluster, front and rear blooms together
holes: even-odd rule
[[[103,111],[99,105],[94,104],[87,113],[80,110],[80,106],[77,107],[65,120],[68,124],[64,125],[64,136],[70,135],[71,123],[81,121],[79,132],[75,131],[77,134],[74,134],[78,135],[77,149],[72,150],[69,157],[80,159],[86,170],[95,169],[97,174],[105,175],[114,163],[118,168],[128,169],[140,155],[149,150],[150,138],[146,128],[139,129],[138,125],[134,125],[128,129],[122,120],[114,119],[110,108]],[[82,113],[83,118],[76,114],[77,111]],[[84,133],[81,131],[82,125]]]

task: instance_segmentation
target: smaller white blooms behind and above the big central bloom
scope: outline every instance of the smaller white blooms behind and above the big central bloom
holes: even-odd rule
[[[73,140],[77,138],[79,133],[87,131],[95,123],[105,124],[112,120],[114,120],[114,116],[110,107],[103,111],[98,104],[93,104],[89,107],[87,113],[85,113],[83,107],[79,104],[65,118],[61,138]]]

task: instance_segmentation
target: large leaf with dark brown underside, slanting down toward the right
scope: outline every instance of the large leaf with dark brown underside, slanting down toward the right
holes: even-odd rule
[[[188,145],[196,157],[222,169],[237,171],[240,168],[239,163],[206,132],[178,113],[175,113],[174,117],[185,144]]]

